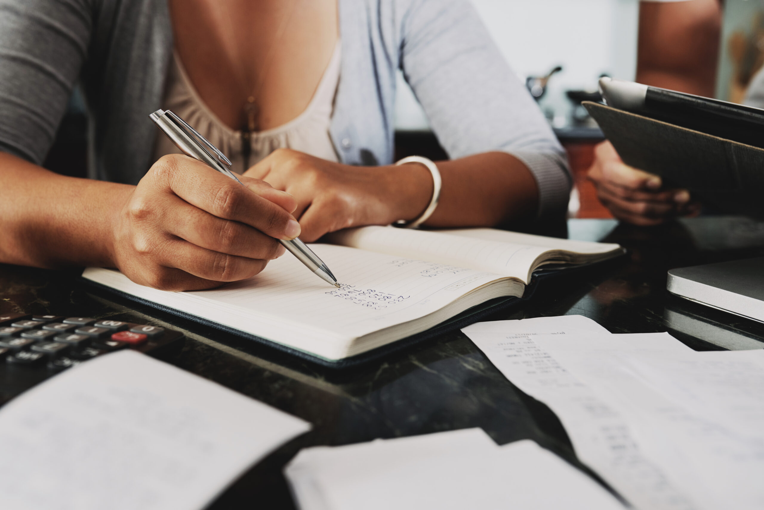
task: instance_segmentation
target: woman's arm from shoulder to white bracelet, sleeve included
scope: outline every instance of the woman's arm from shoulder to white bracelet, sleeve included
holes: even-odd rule
[[[528,201],[537,209],[520,213],[526,220],[564,218],[571,186],[565,151],[474,6],[465,0],[412,4],[402,23],[400,66],[451,159],[439,163],[444,186],[453,188],[444,188],[446,203],[432,224],[520,221],[510,210]],[[520,196],[526,192],[531,195]],[[495,212],[471,216],[484,206]],[[469,219],[460,219],[465,214]]]

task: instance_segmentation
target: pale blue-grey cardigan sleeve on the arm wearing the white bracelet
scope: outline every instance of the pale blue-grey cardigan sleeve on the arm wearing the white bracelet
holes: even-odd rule
[[[403,76],[448,156],[512,154],[536,178],[539,221],[563,218],[571,189],[565,151],[472,5],[409,0],[399,8]]]

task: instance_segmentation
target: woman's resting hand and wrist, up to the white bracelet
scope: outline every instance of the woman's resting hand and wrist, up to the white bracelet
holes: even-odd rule
[[[432,195],[425,166],[351,166],[290,149],[279,149],[252,166],[245,176],[261,179],[297,200],[300,239],[361,225],[411,220]]]

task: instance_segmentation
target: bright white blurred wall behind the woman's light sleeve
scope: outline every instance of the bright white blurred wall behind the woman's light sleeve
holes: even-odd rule
[[[549,79],[539,102],[555,127],[570,125],[568,90],[597,90],[602,74],[634,79],[638,0],[471,0],[520,79]],[[427,129],[427,119],[399,76],[397,128]]]

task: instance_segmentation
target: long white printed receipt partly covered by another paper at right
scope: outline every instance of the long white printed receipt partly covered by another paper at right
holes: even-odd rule
[[[620,335],[610,335],[591,319],[576,315],[478,323],[462,331],[515,386],[552,408],[581,462],[597,471],[632,505],[656,510],[701,508],[672,483],[661,466],[643,454],[626,417],[538,343],[548,335]],[[655,335],[639,337],[650,341]]]

